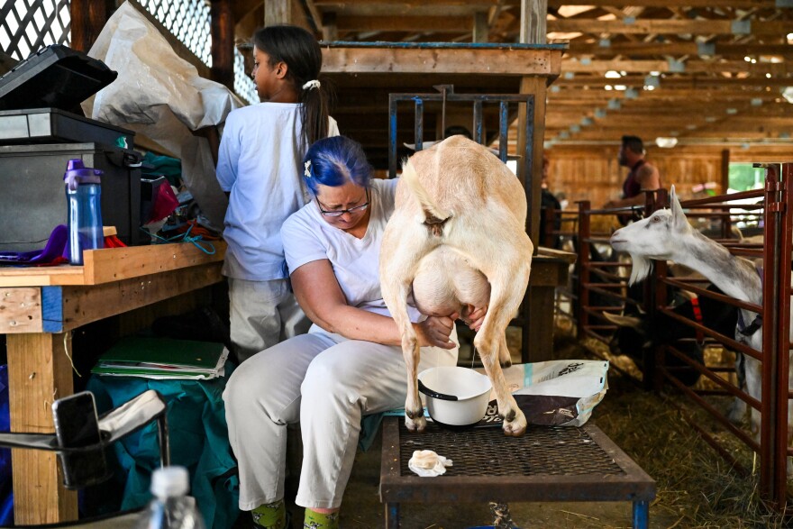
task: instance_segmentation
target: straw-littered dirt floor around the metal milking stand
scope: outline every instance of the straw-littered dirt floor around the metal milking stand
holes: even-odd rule
[[[560,335],[561,334],[561,335]],[[557,330],[555,347],[561,358],[596,358],[597,349]],[[602,351],[599,351],[602,353]],[[462,353],[461,353],[462,354]],[[611,359],[613,364],[624,360]],[[624,367],[624,365],[623,365]],[[742,478],[701,441],[683,419],[674,392],[645,392],[632,378],[609,372],[609,388],[590,421],[606,433],[656,480],[658,494],[650,508],[652,528],[793,527],[790,520],[768,511],[757,497],[756,479]],[[707,419],[698,417],[709,428]],[[359,451],[342,504],[344,529],[384,526],[384,506],[378,497],[380,439],[369,451]],[[748,469],[751,454],[739,453]],[[631,503],[513,503],[510,514],[520,528],[631,527]],[[290,505],[296,520],[302,510]],[[488,498],[474,504],[404,504],[403,529],[468,529],[493,524]],[[246,515],[242,515],[246,519]],[[243,524],[239,524],[244,525]],[[293,528],[299,527],[293,524]]]

